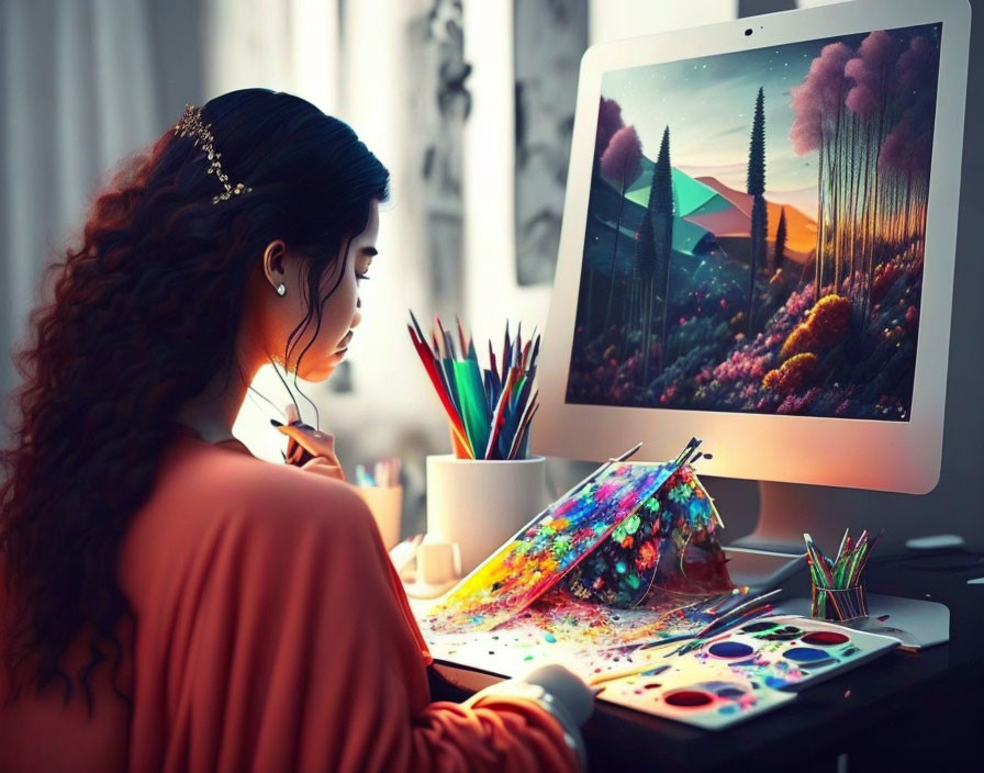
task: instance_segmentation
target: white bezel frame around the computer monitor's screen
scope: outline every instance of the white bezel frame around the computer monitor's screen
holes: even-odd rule
[[[917,361],[908,422],[578,405],[564,402],[602,75],[839,35],[942,23]],[[746,30],[752,34],[747,35]],[[602,43],[581,60],[554,293],[544,331],[536,453],[599,460],[638,441],[639,461],[704,440],[708,475],[914,494],[939,482],[970,47],[966,0],[858,0]]]

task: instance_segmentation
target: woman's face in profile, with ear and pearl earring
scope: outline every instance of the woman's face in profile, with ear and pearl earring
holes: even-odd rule
[[[265,264],[268,278],[275,288],[281,281],[287,284],[287,292],[282,298],[276,292],[271,296],[269,294],[271,291],[267,290],[266,300],[269,302],[267,307],[273,311],[272,324],[267,329],[276,341],[273,352],[277,360],[282,362],[289,372],[293,372],[297,368],[298,358],[308,347],[301,358],[298,378],[305,381],[324,381],[345,358],[353,332],[361,321],[359,281],[360,277],[368,272],[372,257],[376,255],[378,234],[379,202],[372,200],[366,229],[347,245],[346,259],[343,260],[342,251],[339,251],[337,259],[322,277],[318,299],[324,299],[326,295],[327,299],[322,304],[321,327],[317,335],[314,334],[317,318],[312,314],[311,320],[306,323],[308,329],[299,331],[291,340],[290,362],[283,361],[288,336],[291,331],[304,322],[308,313],[308,283],[303,270],[305,259],[297,254],[281,250],[278,261],[277,253],[270,255],[270,247],[278,243],[271,243],[267,248],[269,257],[266,257]],[[343,242],[342,250],[345,250],[346,242],[347,239]],[[279,244],[282,245],[282,243]],[[338,287],[328,295],[336,282]]]

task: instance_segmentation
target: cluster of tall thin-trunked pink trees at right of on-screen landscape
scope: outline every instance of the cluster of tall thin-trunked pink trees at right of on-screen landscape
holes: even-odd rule
[[[877,266],[923,244],[938,59],[938,41],[875,31],[825,46],[791,90],[793,149],[819,155],[815,294],[862,320]]]

